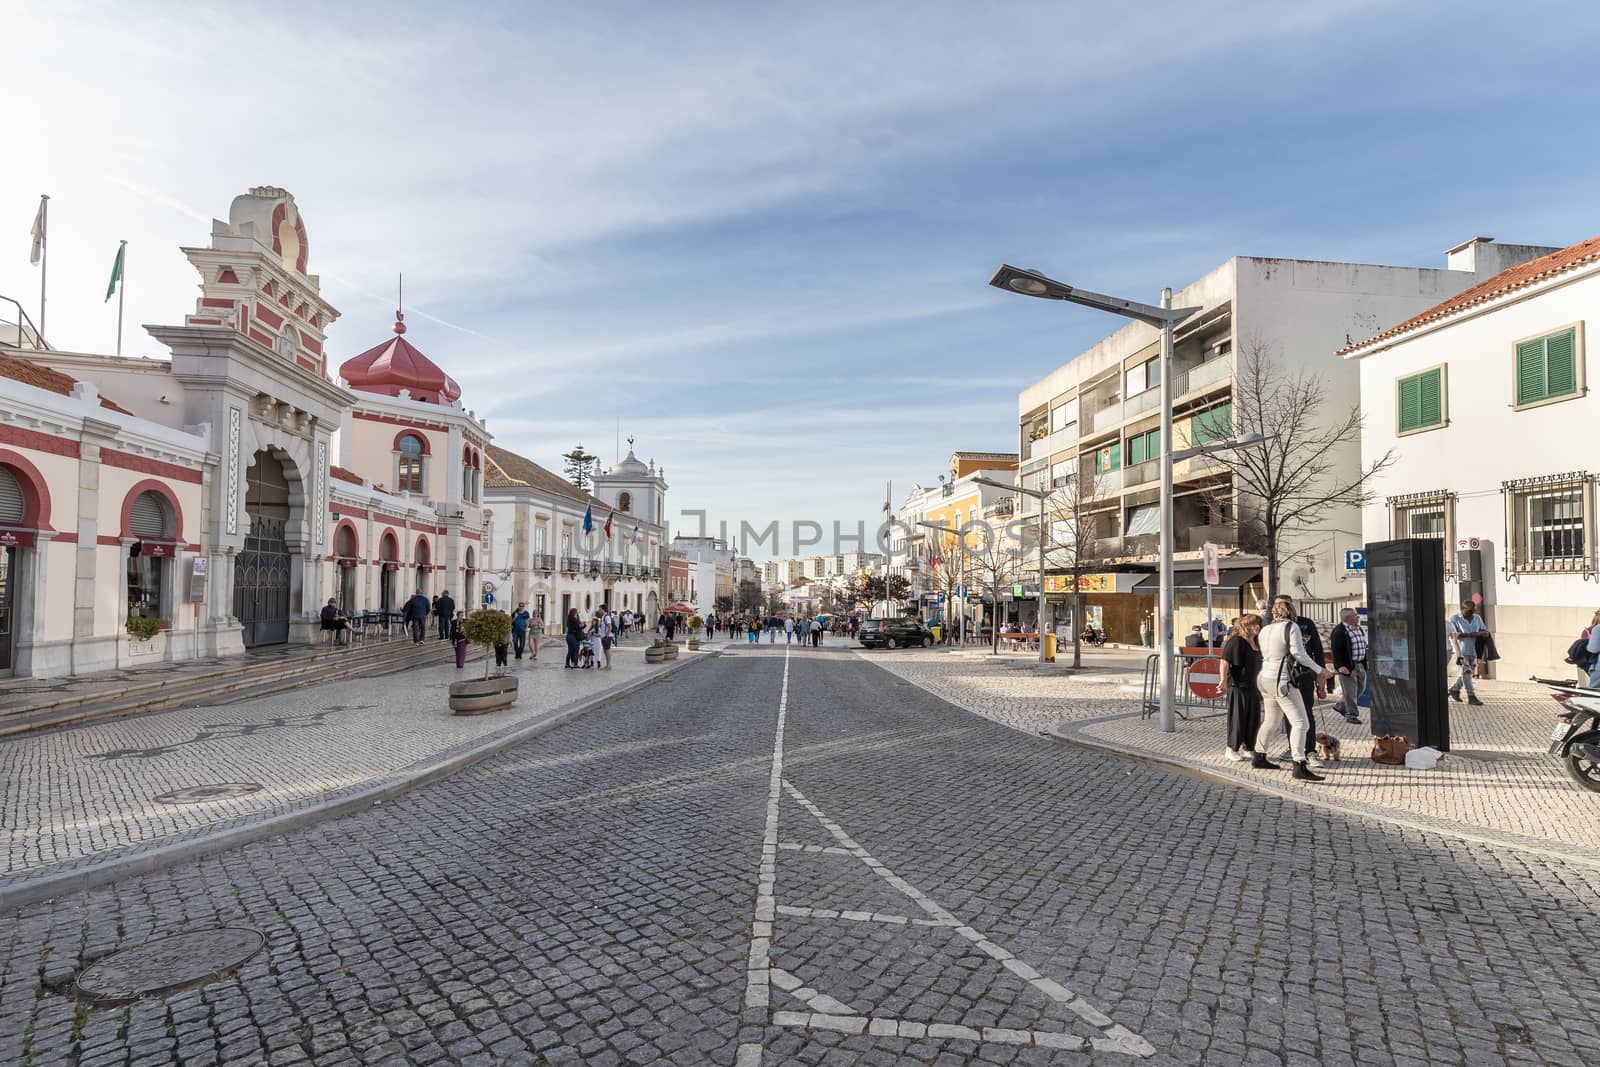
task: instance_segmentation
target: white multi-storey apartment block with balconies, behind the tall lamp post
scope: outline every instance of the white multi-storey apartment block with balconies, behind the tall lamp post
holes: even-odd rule
[[[1182,450],[1229,437],[1235,374],[1250,349],[1261,350],[1278,374],[1320,376],[1318,414],[1342,421],[1360,402],[1354,365],[1334,357],[1352,338],[1371,336],[1461,293],[1507,266],[1547,248],[1467,242],[1446,253],[1445,269],[1389,267],[1304,259],[1235,256],[1173,296],[1174,307],[1198,307],[1178,328],[1173,350],[1173,442]],[[1086,312],[1085,312],[1086,314]],[[1088,597],[1091,613],[1112,640],[1134,641],[1139,619],[1155,605],[1160,534],[1160,333],[1130,323],[1034,382],[1018,397],[1019,483],[1027,488],[1086,486],[1085,526],[1093,533],[1096,566],[1104,574]],[[1334,462],[1354,475],[1360,442],[1346,442]],[[1219,613],[1254,606],[1261,558],[1238,549],[1242,499],[1214,461],[1181,461],[1174,472],[1173,518],[1178,552],[1178,630],[1205,614],[1198,579],[1200,549],[1222,545],[1224,585]],[[1018,494],[1018,515],[1038,515],[1038,504]],[[1344,573],[1344,552],[1363,542],[1358,509],[1326,509],[1315,528],[1294,531],[1280,561],[1278,590],[1299,598],[1355,600],[1360,582]],[[1046,566],[1046,571],[1054,568]],[[1149,577],[1130,581],[1128,573]],[[1062,592],[1046,624],[1066,619]],[[1026,605],[1019,605],[1026,611]],[[1027,619],[1024,619],[1027,621]]]

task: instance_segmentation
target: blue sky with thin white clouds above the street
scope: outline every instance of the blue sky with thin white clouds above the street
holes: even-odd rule
[[[403,270],[499,443],[610,462],[621,419],[734,528],[872,523],[885,480],[1014,446],[1018,390],[1117,323],[989,290],[1000,261],[1154,301],[1232,254],[1600,232],[1590,5],[160,11],[6,14],[0,294],[37,306],[48,192],[53,344],[112,349],[118,238],[128,323],[181,322],[178,246],[283,186],[333,362]]]

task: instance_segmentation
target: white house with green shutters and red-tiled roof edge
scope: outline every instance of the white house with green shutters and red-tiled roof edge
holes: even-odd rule
[[[1592,237],[1341,354],[1360,370],[1363,458],[1395,458],[1363,510],[1366,541],[1442,539],[1440,609],[1482,598],[1506,678],[1570,677],[1566,646],[1600,608],[1597,309]]]

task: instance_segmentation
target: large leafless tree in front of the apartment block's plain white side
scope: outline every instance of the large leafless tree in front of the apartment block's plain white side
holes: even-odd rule
[[[1323,379],[1304,366],[1274,358],[1272,346],[1251,338],[1234,371],[1232,426],[1211,426],[1208,437],[1261,434],[1262,443],[1213,453],[1210,462],[1232,475],[1206,496],[1214,510],[1232,506],[1238,547],[1264,563],[1267,595],[1277,587],[1288,534],[1312,526],[1328,509],[1360,507],[1371,499],[1374,475],[1395,461],[1394,450],[1378,459],[1347,462],[1362,440],[1362,408],[1326,413]],[[1202,443],[1202,442],[1195,442]]]

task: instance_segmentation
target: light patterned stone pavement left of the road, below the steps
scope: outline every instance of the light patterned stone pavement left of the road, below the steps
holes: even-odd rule
[[[565,646],[547,641],[512,661],[518,699],[494,715],[450,712],[450,683],[483,673],[475,659],[8,737],[0,893],[403,781],[672,670],[646,665],[645,643],[622,645],[611,670],[563,670]]]

